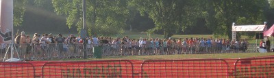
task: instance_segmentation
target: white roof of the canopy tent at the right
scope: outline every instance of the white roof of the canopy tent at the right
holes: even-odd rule
[[[263,25],[239,25],[232,26],[232,31],[266,31],[267,26]]]

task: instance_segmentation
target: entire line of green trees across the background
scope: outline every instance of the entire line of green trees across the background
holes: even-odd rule
[[[231,39],[232,22],[266,21],[272,26],[273,4],[273,0],[86,0],[86,22],[89,35],[136,29],[164,37],[202,32]],[[14,0],[14,26],[32,26],[33,21],[44,22],[36,24],[43,29],[80,31],[82,0]]]

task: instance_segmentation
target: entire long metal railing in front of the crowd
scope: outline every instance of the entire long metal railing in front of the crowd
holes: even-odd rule
[[[92,58],[92,48],[94,45],[87,44],[86,52]],[[155,47],[151,45],[122,45],[122,44],[102,44],[100,45],[102,56],[138,56],[138,55],[164,55],[164,54],[224,54],[224,53],[244,53],[258,52],[256,44],[249,44],[245,47],[235,47],[233,45],[173,45]],[[63,58],[82,58],[84,46],[77,44],[15,44],[16,52],[14,57],[27,60],[51,60]],[[0,48],[0,58],[3,60],[8,49],[8,44],[2,44]],[[7,52],[10,58],[10,51]],[[7,57],[5,57],[7,58]]]

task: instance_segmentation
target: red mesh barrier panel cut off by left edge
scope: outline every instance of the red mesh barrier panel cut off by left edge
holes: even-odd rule
[[[30,78],[34,77],[36,70],[29,62],[0,62],[1,78]]]

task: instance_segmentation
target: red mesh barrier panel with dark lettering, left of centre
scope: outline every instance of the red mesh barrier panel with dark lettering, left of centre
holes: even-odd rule
[[[47,62],[42,77],[133,77],[129,60],[93,60],[80,62]]]

